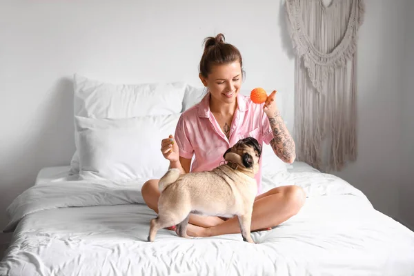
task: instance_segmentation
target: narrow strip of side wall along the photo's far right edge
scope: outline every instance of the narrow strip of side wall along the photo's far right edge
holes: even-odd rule
[[[406,0],[402,94],[402,181],[400,218],[414,229],[414,1]]]

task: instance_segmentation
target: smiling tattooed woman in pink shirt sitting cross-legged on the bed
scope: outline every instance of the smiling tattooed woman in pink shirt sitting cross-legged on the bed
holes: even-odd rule
[[[275,102],[273,91],[261,105],[239,94],[244,77],[239,50],[224,41],[224,35],[208,37],[199,65],[199,78],[208,92],[193,108],[180,117],[175,137],[161,141],[161,152],[170,168],[181,173],[212,170],[223,161],[224,152],[239,139],[255,137],[259,144],[270,144],[275,155],[292,163],[295,142],[290,136]],[[260,164],[262,167],[262,164]],[[258,195],[253,205],[251,230],[263,230],[281,224],[296,215],[305,201],[299,186],[282,186],[261,191],[261,170],[255,176]],[[147,181],[142,195],[148,207],[158,213],[158,179]],[[187,234],[210,237],[240,233],[237,217],[221,219],[190,215]]]

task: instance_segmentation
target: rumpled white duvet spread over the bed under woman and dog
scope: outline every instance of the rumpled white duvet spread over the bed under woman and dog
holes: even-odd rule
[[[302,210],[277,228],[184,239],[159,230],[142,183],[62,181],[33,186],[8,208],[12,245],[0,275],[414,275],[414,233],[333,175],[264,177],[264,190],[302,186]],[[277,210],[275,210],[277,212]]]

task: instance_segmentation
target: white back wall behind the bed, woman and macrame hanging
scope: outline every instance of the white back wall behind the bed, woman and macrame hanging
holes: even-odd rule
[[[401,130],[403,3],[366,1],[359,41],[359,159],[338,174],[366,193],[378,210],[393,216],[398,209],[400,146],[394,141]],[[74,72],[117,83],[198,84],[201,43],[224,32],[244,56],[244,88],[262,86],[292,96],[294,63],[281,4],[1,2],[0,210],[32,186],[40,168],[69,163],[75,150]],[[6,222],[1,211],[0,228]]]

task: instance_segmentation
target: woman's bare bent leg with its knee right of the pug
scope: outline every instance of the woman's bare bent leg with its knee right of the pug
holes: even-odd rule
[[[259,195],[253,204],[251,231],[275,227],[296,215],[304,205],[306,195],[299,186],[273,188]],[[240,233],[237,217],[222,224],[204,228],[189,225],[187,234],[191,237],[211,237]]]

